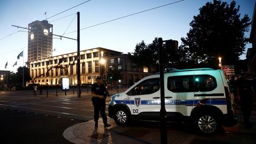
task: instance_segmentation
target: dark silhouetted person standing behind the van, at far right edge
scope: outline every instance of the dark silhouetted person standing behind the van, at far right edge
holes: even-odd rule
[[[252,123],[249,120],[253,103],[252,79],[248,79],[245,76],[241,76],[241,78],[237,79],[236,94],[241,107],[242,116],[244,117],[245,126],[252,127]]]

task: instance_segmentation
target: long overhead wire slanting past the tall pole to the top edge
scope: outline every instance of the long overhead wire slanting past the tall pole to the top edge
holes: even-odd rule
[[[130,17],[130,16],[132,16],[132,15],[136,15],[136,14],[140,14],[140,13],[146,12],[146,11],[151,11],[151,10],[153,10],[153,9],[165,7],[165,6],[167,6],[167,5],[176,4],[176,3],[181,2],[181,1],[185,1],[185,0],[175,1],[175,2],[171,2],[171,3],[169,3],[169,4],[161,5],[161,6],[159,6],[159,7],[150,8],[150,9],[146,9],[146,10],[144,10],[144,11],[135,12],[135,13],[133,13],[133,14],[125,15],[125,16],[123,16],[123,17],[115,18],[115,19],[113,19],[113,20],[105,21],[105,22],[103,22],[103,23],[99,23],[99,24],[91,25],[91,26],[89,26],[89,27],[82,28],[82,29],[80,29],[80,31],[81,31],[81,30],[85,30],[85,29],[87,29],[87,28],[96,27],[96,26],[101,25],[101,24],[110,23],[111,21],[120,20],[121,18],[126,18],[126,17]],[[65,35],[71,34],[71,33],[75,33],[75,32],[76,32],[76,31],[72,31],[72,32],[70,32],[70,33],[66,33]]]

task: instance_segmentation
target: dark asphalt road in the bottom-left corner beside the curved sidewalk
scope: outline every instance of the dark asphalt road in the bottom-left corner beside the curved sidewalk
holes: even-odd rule
[[[62,133],[81,120],[0,107],[0,143],[71,143]]]

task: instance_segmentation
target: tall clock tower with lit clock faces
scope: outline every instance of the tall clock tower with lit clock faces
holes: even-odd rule
[[[52,57],[53,25],[48,21],[28,24],[28,62]]]

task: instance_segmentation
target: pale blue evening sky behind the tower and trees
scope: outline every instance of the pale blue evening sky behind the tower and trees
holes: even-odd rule
[[[155,37],[178,40],[180,45],[181,37],[186,37],[190,30],[189,23],[193,20],[193,16],[199,14],[199,8],[209,2],[206,0],[180,2],[177,2],[178,0],[91,0],[52,17],[85,1],[87,0],[0,0],[0,70],[17,71],[18,66],[23,66],[23,57],[21,57],[18,65],[12,67],[18,54],[23,50],[24,62],[27,61],[27,30],[17,29],[11,25],[27,27],[29,23],[44,20],[47,16],[50,24],[53,24],[53,34],[62,35],[66,31],[66,37],[76,39],[76,32],[71,32],[77,30],[76,12],[79,11],[80,28],[83,29],[80,32],[81,50],[104,47],[128,53],[134,52],[136,44],[142,40],[148,44],[152,43]],[[177,3],[87,28],[172,2]],[[230,4],[231,1],[226,2]],[[248,14],[252,18],[255,0],[237,0],[236,3],[240,5],[242,17]],[[44,12],[47,12],[47,15],[44,15]],[[61,19],[58,20],[59,18]],[[249,37],[249,32],[245,37]],[[54,38],[53,56],[76,52],[75,40]],[[247,48],[250,47],[251,44],[247,44]],[[241,59],[245,59],[245,55],[242,55]],[[8,62],[7,69],[5,69],[6,62]]]

